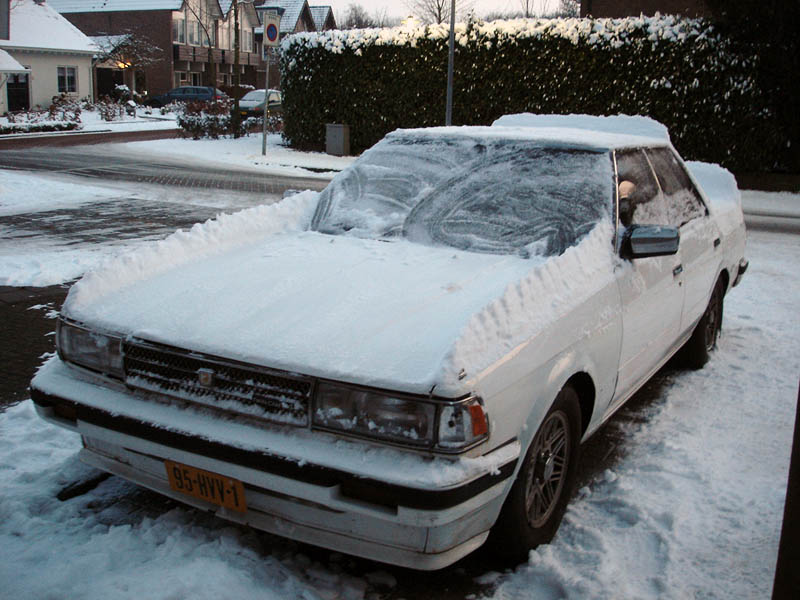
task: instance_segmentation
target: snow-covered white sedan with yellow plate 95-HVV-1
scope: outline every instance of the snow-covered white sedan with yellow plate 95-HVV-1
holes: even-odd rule
[[[746,269],[739,192],[643,117],[396,131],[76,283],[31,383],[81,458],[419,569],[554,536],[580,443]]]

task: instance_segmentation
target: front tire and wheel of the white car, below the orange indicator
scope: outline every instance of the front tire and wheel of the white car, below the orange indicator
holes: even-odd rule
[[[580,439],[578,394],[566,385],[533,436],[492,528],[495,555],[522,562],[530,550],[553,539],[575,488]]]

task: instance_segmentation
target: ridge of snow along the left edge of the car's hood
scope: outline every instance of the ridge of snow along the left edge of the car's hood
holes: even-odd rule
[[[196,262],[281,231],[307,229],[317,206],[318,193],[302,192],[276,204],[257,206],[234,214],[221,214],[178,230],[145,248],[115,257],[76,283],[64,311],[85,306],[98,297],[181,264]]]

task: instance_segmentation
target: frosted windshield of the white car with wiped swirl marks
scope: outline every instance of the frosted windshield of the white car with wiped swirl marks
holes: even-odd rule
[[[312,228],[471,252],[555,256],[610,214],[605,151],[536,140],[388,136],[322,192]]]

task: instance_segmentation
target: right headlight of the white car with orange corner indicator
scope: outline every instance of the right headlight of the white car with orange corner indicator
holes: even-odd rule
[[[445,452],[464,450],[489,431],[477,398],[444,404],[330,383],[318,385],[312,417],[321,429]]]

